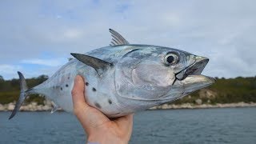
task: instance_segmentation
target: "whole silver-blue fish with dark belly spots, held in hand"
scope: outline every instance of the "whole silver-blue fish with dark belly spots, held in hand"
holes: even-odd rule
[[[77,75],[86,80],[86,102],[109,118],[174,102],[215,82],[201,74],[209,58],[166,46],[130,44],[112,29],[110,34],[110,46],[71,53],[74,58],[38,86],[29,89],[18,72],[21,92],[10,118],[30,94],[53,102],[52,113],[58,107],[72,113],[71,91]]]

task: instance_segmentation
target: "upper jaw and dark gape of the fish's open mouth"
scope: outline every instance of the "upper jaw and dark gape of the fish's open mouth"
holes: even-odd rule
[[[187,66],[185,69],[175,74],[175,77],[176,79],[182,81],[189,75],[199,75],[202,73],[202,70],[206,67],[208,62],[209,58],[196,56],[195,61],[190,64],[190,66]]]

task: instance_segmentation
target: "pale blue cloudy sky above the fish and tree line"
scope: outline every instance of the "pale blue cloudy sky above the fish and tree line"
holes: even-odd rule
[[[256,75],[256,1],[0,1],[0,75],[52,75],[72,58],[110,44],[108,29],[132,44],[210,58],[202,74]]]

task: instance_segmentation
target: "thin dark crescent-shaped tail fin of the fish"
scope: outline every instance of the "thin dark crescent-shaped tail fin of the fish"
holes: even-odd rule
[[[25,78],[24,78],[23,74],[19,71],[18,71],[18,77],[19,77],[19,82],[20,82],[20,87],[21,87],[21,94],[19,94],[18,102],[16,102],[16,105],[15,105],[15,108],[14,108],[13,112],[12,112],[12,114],[10,114],[10,118],[14,117],[14,115],[17,113],[19,108],[22,106],[22,103],[24,102],[24,100],[27,96],[27,94],[26,94],[26,90],[27,90],[26,81],[25,81]]]

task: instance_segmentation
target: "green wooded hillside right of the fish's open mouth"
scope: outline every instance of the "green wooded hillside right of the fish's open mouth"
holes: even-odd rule
[[[256,77],[216,78],[216,80],[214,85],[198,90],[174,103],[195,103],[198,98],[202,103],[209,104],[256,102]]]

